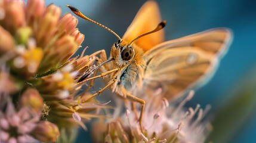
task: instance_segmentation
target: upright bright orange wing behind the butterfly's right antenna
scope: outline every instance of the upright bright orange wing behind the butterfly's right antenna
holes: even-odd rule
[[[155,1],[147,1],[138,11],[122,39],[129,43],[138,36],[155,29],[161,21],[158,4]],[[144,36],[134,43],[140,46],[144,51],[147,51],[163,41],[164,30],[161,30]]]

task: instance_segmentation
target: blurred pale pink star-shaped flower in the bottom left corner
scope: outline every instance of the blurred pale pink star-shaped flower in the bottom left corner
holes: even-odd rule
[[[16,111],[10,99],[5,105],[6,109],[0,109],[0,141],[33,141],[30,132],[36,127],[40,114],[36,114],[27,107],[21,107]]]

